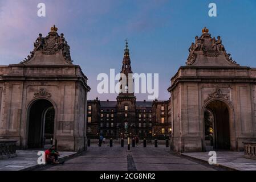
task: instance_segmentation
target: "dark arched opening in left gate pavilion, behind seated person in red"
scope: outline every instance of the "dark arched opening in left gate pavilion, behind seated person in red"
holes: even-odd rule
[[[29,148],[41,148],[52,144],[54,140],[55,109],[52,103],[40,99],[32,103],[28,112],[29,118]]]

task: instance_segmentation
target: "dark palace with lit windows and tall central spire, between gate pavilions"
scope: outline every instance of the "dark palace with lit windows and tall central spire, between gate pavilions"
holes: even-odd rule
[[[120,93],[116,101],[88,101],[87,137],[124,138],[164,137],[170,135],[169,101],[136,101],[133,93],[128,43],[124,49]],[[124,77],[126,79],[124,79]],[[130,91],[130,92],[129,92]]]

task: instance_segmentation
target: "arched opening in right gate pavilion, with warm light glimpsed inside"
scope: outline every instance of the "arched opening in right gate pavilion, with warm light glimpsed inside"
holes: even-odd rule
[[[206,150],[230,150],[229,109],[222,101],[210,102],[204,111]]]

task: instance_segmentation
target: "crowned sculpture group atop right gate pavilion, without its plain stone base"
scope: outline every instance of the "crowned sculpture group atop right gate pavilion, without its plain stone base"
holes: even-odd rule
[[[217,57],[219,55],[225,55],[227,61],[231,64],[239,65],[233,61],[230,57],[230,54],[226,53],[225,47],[222,44],[221,36],[212,38],[209,34],[208,28],[202,29],[202,35],[200,38],[196,36],[195,43],[192,43],[192,46],[189,48],[189,56],[186,61],[186,65],[193,65],[196,61],[198,54],[204,55],[206,57]]]

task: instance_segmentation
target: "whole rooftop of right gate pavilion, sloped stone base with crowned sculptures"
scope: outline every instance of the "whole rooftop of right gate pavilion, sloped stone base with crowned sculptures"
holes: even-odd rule
[[[230,53],[226,52],[221,37],[212,38],[208,28],[202,29],[200,38],[196,36],[195,42],[189,48],[186,65],[192,66],[217,66],[236,67],[239,64],[233,60]]]

